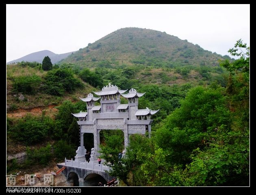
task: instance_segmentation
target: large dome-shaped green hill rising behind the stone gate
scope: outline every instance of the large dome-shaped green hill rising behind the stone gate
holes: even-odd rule
[[[165,32],[121,28],[92,44],[89,43],[87,47],[79,49],[62,61],[89,67],[114,67],[122,63],[172,67],[188,64],[215,66],[219,59],[223,59],[223,56]]]

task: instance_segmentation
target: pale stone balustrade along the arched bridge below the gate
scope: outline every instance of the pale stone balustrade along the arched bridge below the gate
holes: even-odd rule
[[[87,163],[87,162],[82,162],[82,161],[75,161],[73,159],[67,160],[65,158],[65,166],[69,167],[80,167],[83,169],[93,169],[93,170],[98,170],[98,171],[105,171],[109,170],[108,166],[98,164],[98,163]]]

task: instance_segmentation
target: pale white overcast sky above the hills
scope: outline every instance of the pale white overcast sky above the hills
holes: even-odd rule
[[[249,45],[249,15],[249,4],[7,4],[6,62],[41,50],[76,51],[125,27],[159,30],[226,55],[239,39]]]

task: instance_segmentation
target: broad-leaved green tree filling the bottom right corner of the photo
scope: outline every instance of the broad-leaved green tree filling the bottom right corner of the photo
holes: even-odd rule
[[[186,185],[249,186],[249,130],[219,131],[208,145],[193,151]]]

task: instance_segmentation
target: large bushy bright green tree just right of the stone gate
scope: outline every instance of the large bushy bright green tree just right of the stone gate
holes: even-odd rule
[[[169,152],[167,160],[185,166],[193,149],[202,144],[207,131],[230,128],[230,113],[221,89],[195,87],[156,132],[156,143]]]

